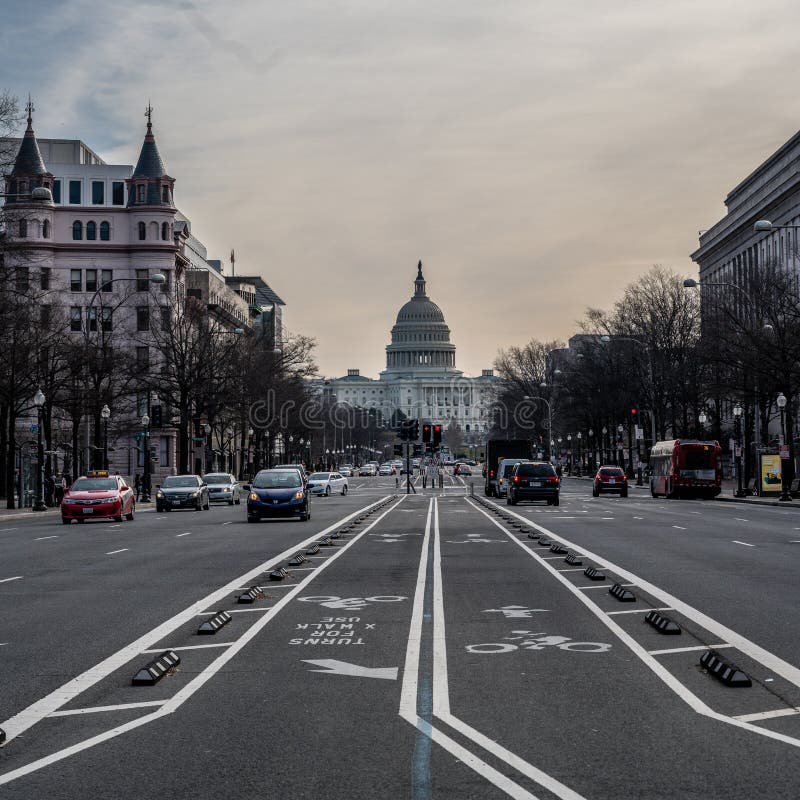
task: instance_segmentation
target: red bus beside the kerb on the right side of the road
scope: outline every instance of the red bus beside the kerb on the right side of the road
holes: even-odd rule
[[[650,451],[650,494],[656,497],[716,497],[722,490],[719,442],[672,439]]]

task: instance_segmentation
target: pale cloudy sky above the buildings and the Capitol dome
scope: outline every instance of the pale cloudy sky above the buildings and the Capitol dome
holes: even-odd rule
[[[209,257],[376,377],[422,259],[467,375],[566,340],[800,128],[795,0],[2,3],[0,89],[134,164]]]

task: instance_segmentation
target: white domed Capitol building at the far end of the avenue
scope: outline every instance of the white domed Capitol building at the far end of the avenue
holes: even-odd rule
[[[457,426],[469,439],[489,430],[497,379],[491,369],[469,378],[456,369],[456,346],[441,308],[426,292],[422,262],[414,294],[397,313],[386,346],[386,369],[378,379],[348,369],[341,378],[316,383],[326,402],[375,409],[384,420],[420,419]]]

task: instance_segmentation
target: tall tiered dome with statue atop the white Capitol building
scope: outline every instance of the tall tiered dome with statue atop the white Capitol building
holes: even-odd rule
[[[392,343],[386,347],[386,371],[382,377],[460,375],[455,366],[456,347],[450,341],[450,328],[442,309],[425,292],[420,261],[414,296],[402,306],[392,328]]]

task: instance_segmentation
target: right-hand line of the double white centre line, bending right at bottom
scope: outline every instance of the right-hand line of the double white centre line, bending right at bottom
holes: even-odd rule
[[[507,750],[498,742],[485,736],[480,731],[473,728],[463,720],[450,713],[450,693],[449,683],[447,678],[447,648],[446,641],[447,635],[444,623],[444,595],[442,580],[442,551],[441,551],[441,534],[439,531],[439,503],[435,502],[435,516],[434,516],[434,539],[433,539],[433,714],[438,719],[441,719],[454,730],[471,739],[478,746],[482,747],[488,753],[491,753],[495,758],[504,761],[506,764],[516,769],[520,774],[525,775],[530,780],[543,786],[545,789],[552,792],[556,797],[562,800],[584,800],[584,798],[577,792],[574,792],[568,786],[557,781],[553,776],[548,775],[546,772],[537,769],[532,764],[529,764],[524,759],[520,758],[515,753]],[[427,549],[423,547],[422,564],[427,562]],[[423,573],[424,579],[424,573]],[[424,586],[423,586],[424,589]],[[415,595],[416,600],[416,595]],[[415,715],[416,716],[416,715]],[[419,726],[417,726],[419,727]],[[436,741],[435,737],[433,738]],[[468,752],[468,751],[465,751]],[[483,764],[483,762],[479,762]],[[486,765],[488,767],[488,765]],[[479,770],[473,766],[476,772]],[[488,767],[488,769],[492,769]],[[481,773],[483,774],[483,773]],[[521,787],[511,782],[507,776],[496,773],[504,781],[509,781],[510,787],[519,789],[524,794],[513,794],[508,789],[505,791],[512,797],[533,797],[533,795],[525,792]],[[488,775],[485,775],[488,777]],[[489,778],[491,780],[491,778]],[[504,788],[502,784],[492,781],[499,788]]]

